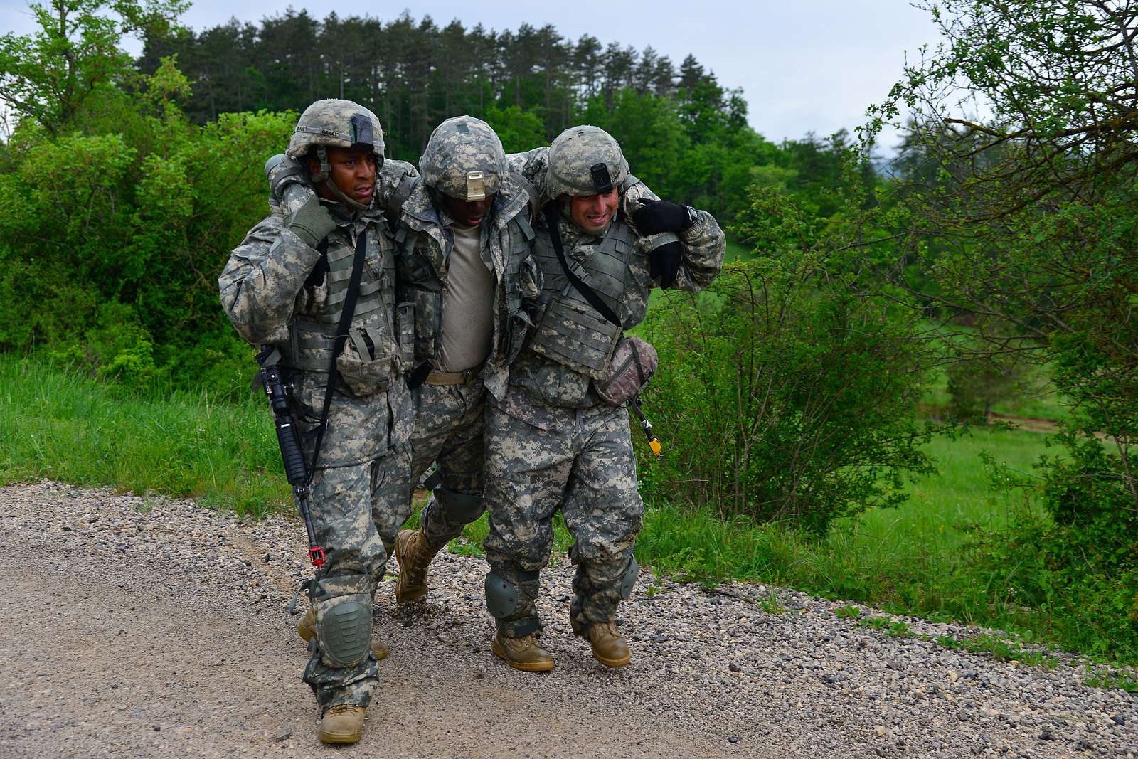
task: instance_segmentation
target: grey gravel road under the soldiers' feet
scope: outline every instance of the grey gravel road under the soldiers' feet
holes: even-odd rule
[[[444,554],[398,611],[364,740],[324,749],[286,607],[292,520],[49,481],[0,488],[0,757],[1136,757],[1138,702],[1047,671],[885,637],[844,604],[642,572],[622,607],[633,663],[609,670],[568,625],[568,561],[541,600],[549,674],[489,651],[480,559]],[[758,601],[774,593],[777,604]],[[303,604],[302,604],[303,608]],[[772,613],[775,612],[775,613]],[[931,636],[978,630],[908,620]]]

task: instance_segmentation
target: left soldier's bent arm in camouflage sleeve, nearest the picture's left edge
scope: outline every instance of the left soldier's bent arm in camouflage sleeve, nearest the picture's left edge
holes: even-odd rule
[[[254,345],[287,340],[297,296],[319,259],[279,215],[249,230],[217,278],[221,305],[241,337]]]

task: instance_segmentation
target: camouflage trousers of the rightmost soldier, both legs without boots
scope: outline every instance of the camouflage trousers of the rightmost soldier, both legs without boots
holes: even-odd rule
[[[514,610],[498,618],[498,630],[520,637],[539,627],[538,572],[549,563],[553,514],[560,509],[574,538],[570,618],[580,633],[615,619],[630,589],[626,576],[644,504],[636,490],[628,411],[601,404],[522,413],[543,420],[542,426],[494,405],[486,410],[486,559],[518,599]]]

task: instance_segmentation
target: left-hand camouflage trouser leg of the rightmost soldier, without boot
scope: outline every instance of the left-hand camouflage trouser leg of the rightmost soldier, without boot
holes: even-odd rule
[[[501,636],[520,638],[539,627],[538,572],[553,547],[553,512],[572,467],[571,443],[567,432],[486,410],[486,601]]]

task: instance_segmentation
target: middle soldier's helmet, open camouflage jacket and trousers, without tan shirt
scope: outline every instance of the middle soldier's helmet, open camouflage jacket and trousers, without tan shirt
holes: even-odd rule
[[[487,150],[488,147],[495,149]],[[451,287],[447,277],[455,233],[454,221],[442,207],[437,193],[445,190],[459,197],[465,190],[468,168],[486,168],[485,192],[494,195],[480,232],[481,257],[494,277],[494,289],[486,294],[485,304],[494,314],[493,336],[485,364],[468,371],[444,372],[440,331],[444,299]],[[485,122],[470,116],[445,121],[423,151],[421,175],[403,204],[395,236],[399,247],[399,299],[414,305],[415,364],[426,363],[431,369],[424,382],[413,390],[411,481],[418,481],[432,462],[438,463],[440,487],[434,489],[420,517],[422,534],[432,551],[461,535],[462,528],[485,511],[485,391],[504,395],[506,368],[531,324],[522,304],[531,304],[538,292],[537,267],[530,256],[531,189],[523,187],[525,180],[510,176],[506,168],[497,135]],[[409,501],[381,533],[397,530],[410,514]]]

